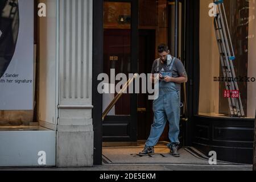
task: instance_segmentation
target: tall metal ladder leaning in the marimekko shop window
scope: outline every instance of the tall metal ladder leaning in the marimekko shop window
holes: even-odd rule
[[[221,68],[225,77],[225,87],[226,90],[238,90],[239,92],[233,65],[236,56],[234,55],[232,39],[229,32],[228,21],[226,19],[224,1],[213,0],[213,3],[217,7],[217,14],[214,17],[214,28],[218,50],[220,52]],[[228,102],[232,117],[245,117],[240,92],[238,98],[229,97]]]

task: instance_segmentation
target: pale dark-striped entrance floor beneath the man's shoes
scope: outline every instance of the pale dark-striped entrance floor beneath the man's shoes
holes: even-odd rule
[[[170,154],[167,146],[155,146],[155,154],[148,156],[139,156],[143,150],[143,145],[133,147],[103,147],[103,164],[182,164],[182,165],[210,165],[209,157],[196,150],[194,147],[182,147],[179,150],[180,158]],[[212,161],[212,160],[210,160]],[[231,162],[217,160],[217,165],[224,166],[246,166]]]

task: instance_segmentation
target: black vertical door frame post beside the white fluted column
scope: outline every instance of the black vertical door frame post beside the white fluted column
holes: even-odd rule
[[[93,0],[93,164],[102,164],[102,94],[97,92],[100,81],[97,77],[103,72],[103,0]],[[99,114],[100,113],[100,114]]]

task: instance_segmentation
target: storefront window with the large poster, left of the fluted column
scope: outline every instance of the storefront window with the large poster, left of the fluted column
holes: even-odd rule
[[[36,3],[0,2],[1,131],[55,122],[56,1],[44,3],[38,18]]]

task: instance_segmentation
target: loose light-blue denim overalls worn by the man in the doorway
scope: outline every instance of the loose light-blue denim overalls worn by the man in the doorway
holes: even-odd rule
[[[161,72],[163,76],[172,77],[172,67],[174,60],[171,55],[167,58],[168,72]],[[158,72],[159,72],[160,60],[158,60]],[[146,141],[146,146],[154,147],[163,133],[166,121],[169,122],[169,139],[171,141],[168,144],[180,144],[179,142],[179,122],[180,122],[180,91],[176,88],[174,82],[164,82],[159,80],[159,97],[153,101],[154,111],[154,123],[151,126],[150,136]]]

